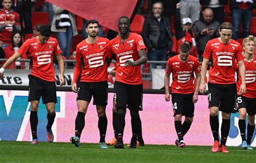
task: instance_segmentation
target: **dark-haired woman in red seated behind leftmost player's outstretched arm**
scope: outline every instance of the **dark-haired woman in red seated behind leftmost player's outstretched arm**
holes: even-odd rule
[[[11,37],[11,44],[4,48],[4,58],[9,59],[18,49],[22,46],[22,35],[19,32],[15,32]],[[28,56],[21,57],[19,59],[28,59]],[[3,65],[3,64],[1,64]],[[24,69],[24,62],[15,61],[12,62],[8,69]]]

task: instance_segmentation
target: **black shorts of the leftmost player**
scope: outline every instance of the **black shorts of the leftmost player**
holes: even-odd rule
[[[39,101],[42,96],[43,104],[57,103],[55,82],[45,81],[39,77],[29,75],[29,102]]]

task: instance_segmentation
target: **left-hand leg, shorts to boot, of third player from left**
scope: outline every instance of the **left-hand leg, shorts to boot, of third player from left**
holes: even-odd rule
[[[124,148],[123,134],[125,127],[126,105],[129,95],[128,84],[116,81],[114,83],[114,101],[117,107],[117,145],[114,148]]]

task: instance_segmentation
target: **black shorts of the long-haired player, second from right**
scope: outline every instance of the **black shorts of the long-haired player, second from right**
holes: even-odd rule
[[[235,113],[235,104],[237,103],[237,85],[233,84],[215,84],[208,82],[208,103],[209,108],[219,107],[220,111],[226,113]]]

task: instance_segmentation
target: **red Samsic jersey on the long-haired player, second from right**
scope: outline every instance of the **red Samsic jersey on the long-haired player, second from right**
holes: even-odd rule
[[[244,51],[239,42],[231,39],[226,45],[220,42],[218,38],[207,42],[204,52],[204,58],[212,57],[213,66],[209,71],[209,82],[217,84],[235,83],[235,59],[243,59]]]

